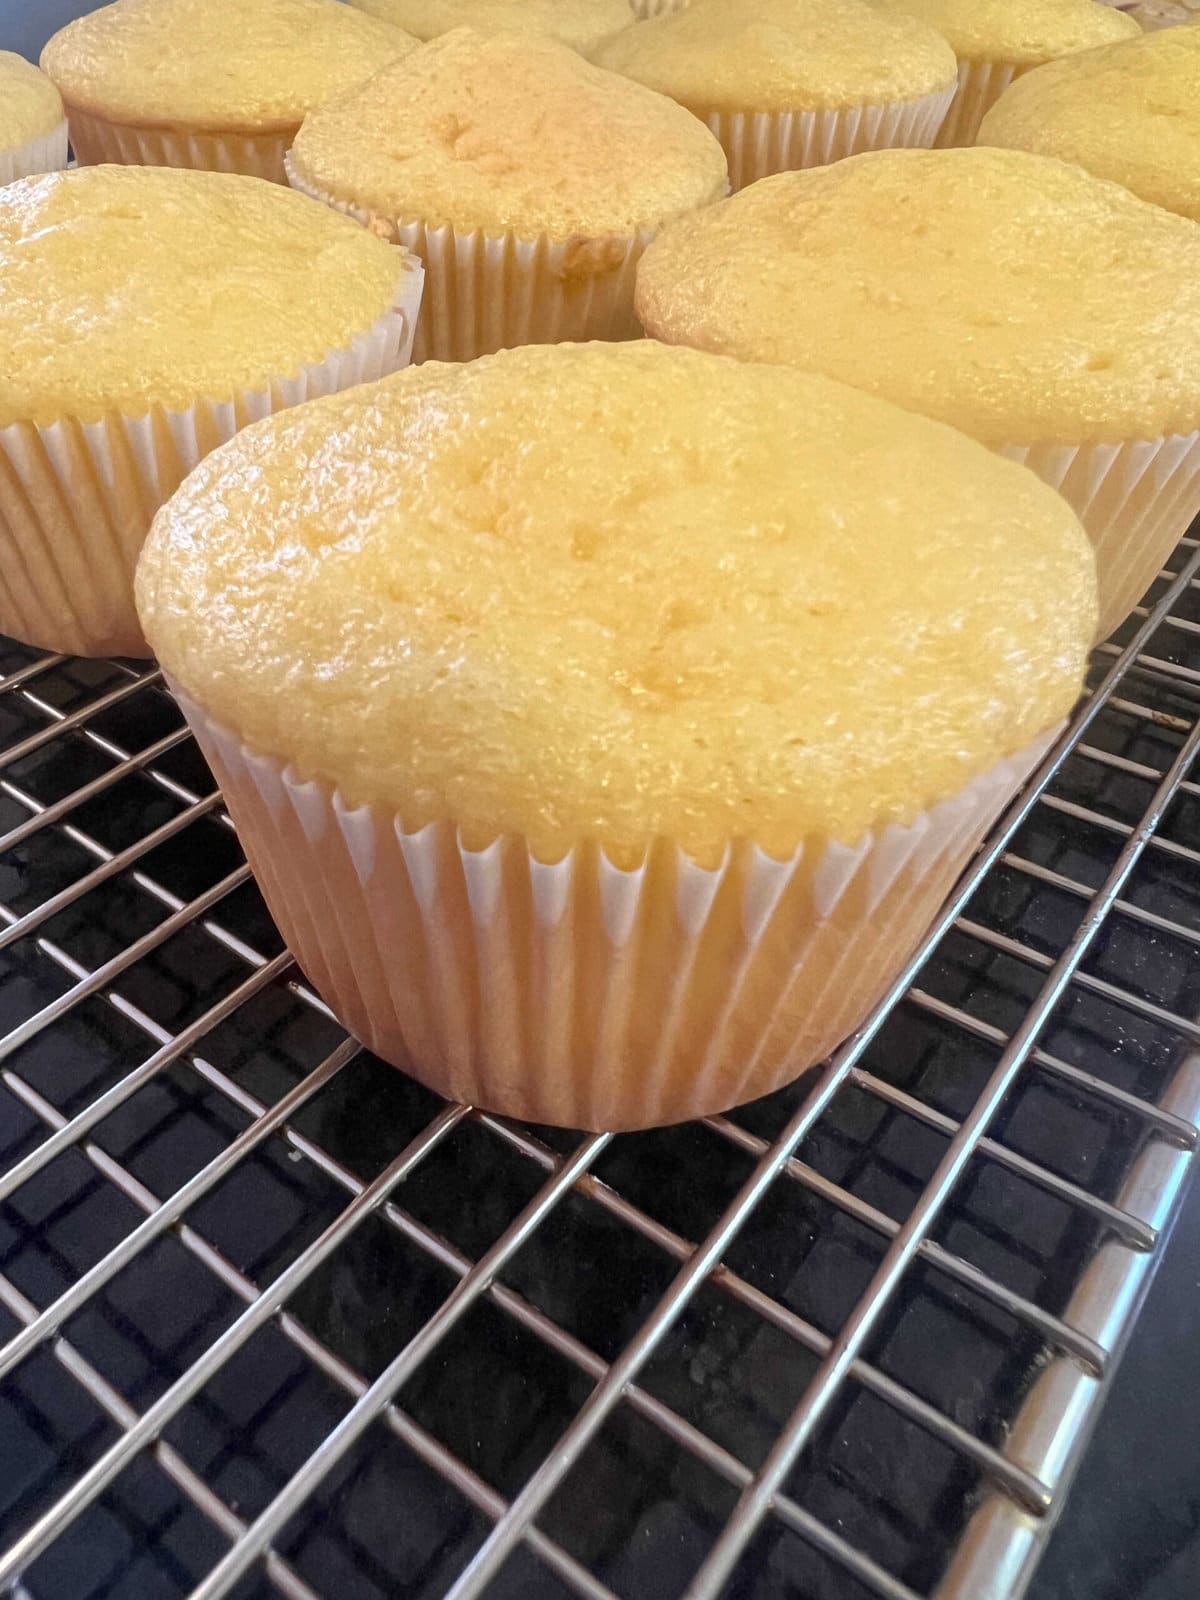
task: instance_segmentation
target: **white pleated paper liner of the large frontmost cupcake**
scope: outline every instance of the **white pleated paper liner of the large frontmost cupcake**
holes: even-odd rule
[[[178,690],[176,690],[178,694]],[[450,1099],[645,1128],[778,1088],[850,1034],[1054,734],[910,826],[714,869],[659,838],[635,869],[514,835],[467,850],[347,806],[179,694],[275,922],[333,1011]]]

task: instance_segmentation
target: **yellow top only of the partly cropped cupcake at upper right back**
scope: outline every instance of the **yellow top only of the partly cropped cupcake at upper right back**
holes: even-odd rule
[[[936,27],[962,61],[1037,66],[1075,50],[1136,38],[1133,18],[1096,0],[872,0]]]

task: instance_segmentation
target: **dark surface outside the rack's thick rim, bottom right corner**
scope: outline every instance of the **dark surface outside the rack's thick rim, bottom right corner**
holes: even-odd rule
[[[1195,1174],[1027,1600],[1200,1597]]]

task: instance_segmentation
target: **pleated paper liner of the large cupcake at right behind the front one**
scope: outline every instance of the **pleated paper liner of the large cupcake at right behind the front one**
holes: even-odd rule
[[[1107,638],[1200,512],[1200,432],[1117,445],[1003,445],[1067,501],[1096,550]]]

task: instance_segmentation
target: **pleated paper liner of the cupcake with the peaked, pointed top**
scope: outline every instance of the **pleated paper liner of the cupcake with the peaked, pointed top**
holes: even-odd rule
[[[637,264],[654,237],[518,238],[459,234],[453,227],[378,218],[302,179],[288,158],[293,189],[333,206],[411,250],[426,264],[414,362],[470,362],[517,344],[637,339]]]

